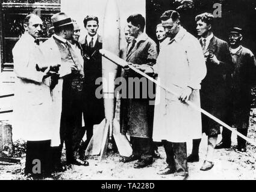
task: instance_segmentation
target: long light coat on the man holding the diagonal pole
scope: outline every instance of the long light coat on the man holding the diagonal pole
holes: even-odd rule
[[[200,107],[199,89],[206,75],[206,66],[199,41],[186,29],[181,28],[173,40],[161,47],[154,69],[158,73],[158,82],[176,94],[187,86],[192,88],[189,100]],[[201,113],[158,87],[153,139],[187,142],[201,136]]]

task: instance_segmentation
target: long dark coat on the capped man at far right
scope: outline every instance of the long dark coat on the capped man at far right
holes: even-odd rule
[[[251,111],[251,88],[255,85],[256,60],[251,50],[240,46],[231,53],[234,71],[231,87],[231,124],[236,128],[248,128]]]

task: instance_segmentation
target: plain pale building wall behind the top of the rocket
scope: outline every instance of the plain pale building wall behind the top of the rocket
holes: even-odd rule
[[[99,18],[99,34],[102,34],[104,10],[107,0],[61,0],[61,11],[67,13],[81,26],[81,37],[86,35],[83,20],[87,15]],[[117,0],[120,10],[121,29],[126,25],[128,16],[134,13],[146,15],[146,0]],[[121,31],[121,46],[124,44],[123,31]]]

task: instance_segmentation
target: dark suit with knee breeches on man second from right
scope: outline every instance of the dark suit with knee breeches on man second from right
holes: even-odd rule
[[[207,75],[201,83],[201,107],[217,118],[226,121],[233,71],[228,43],[214,36],[208,50],[216,56],[220,64],[213,64],[208,59],[206,61]],[[213,120],[202,116],[202,129],[207,135],[219,134],[219,126]]]

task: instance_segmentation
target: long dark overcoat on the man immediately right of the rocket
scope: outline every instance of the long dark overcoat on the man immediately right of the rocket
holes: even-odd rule
[[[134,48],[126,55],[126,61],[137,65],[149,65],[152,66],[157,60],[157,44],[148,37],[146,34],[142,34],[140,40],[135,44]],[[123,77],[126,79],[126,83],[129,82],[129,78],[141,78],[137,73],[133,71],[123,73]],[[121,133],[126,132],[133,137],[150,138],[152,137],[152,121],[154,118],[154,105],[149,104],[148,95],[143,97],[143,86],[148,86],[148,81],[145,81],[146,85],[140,86],[140,95],[133,91],[133,95],[130,94],[129,86],[126,91],[126,98],[121,98],[120,102],[120,125]],[[154,86],[152,84],[152,86]],[[148,94],[148,92],[147,92]],[[123,94],[122,94],[123,95]],[[130,96],[133,96],[130,98]],[[136,95],[139,98],[136,98]],[[151,98],[154,99],[154,98]]]

